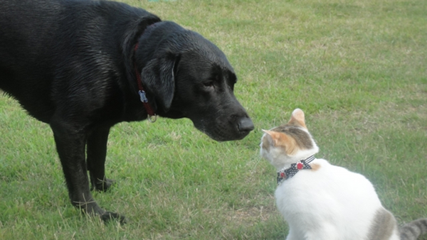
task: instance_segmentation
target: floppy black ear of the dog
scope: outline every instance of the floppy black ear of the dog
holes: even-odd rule
[[[179,56],[169,54],[165,58],[156,58],[142,69],[141,80],[147,91],[154,94],[156,102],[164,111],[168,111],[174,99],[175,74]]]

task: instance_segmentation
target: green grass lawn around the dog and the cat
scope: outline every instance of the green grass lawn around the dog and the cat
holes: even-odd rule
[[[216,43],[255,131],[216,143],[188,119],[118,124],[95,192],[68,200],[51,130],[0,97],[0,239],[283,239],[260,129],[305,111],[320,153],[362,173],[399,223],[427,217],[427,1],[136,1]],[[427,239],[427,238],[424,238]]]

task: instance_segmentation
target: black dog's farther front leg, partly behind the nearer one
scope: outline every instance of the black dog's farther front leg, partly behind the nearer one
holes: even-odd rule
[[[107,141],[110,127],[96,129],[88,136],[88,170],[90,174],[91,190],[107,191],[112,180],[105,178],[105,156],[107,155]]]

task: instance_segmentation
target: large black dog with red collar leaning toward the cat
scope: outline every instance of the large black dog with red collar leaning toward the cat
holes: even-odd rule
[[[102,219],[110,128],[121,121],[189,118],[217,141],[253,123],[233,94],[226,56],[198,33],[114,1],[0,0],[0,89],[50,124],[70,200]],[[143,102],[143,103],[142,103]]]

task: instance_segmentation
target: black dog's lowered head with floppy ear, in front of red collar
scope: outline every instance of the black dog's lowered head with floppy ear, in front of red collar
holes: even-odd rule
[[[253,130],[233,94],[233,67],[199,33],[168,21],[155,23],[139,39],[136,60],[160,116],[187,117],[216,141],[238,140]]]

